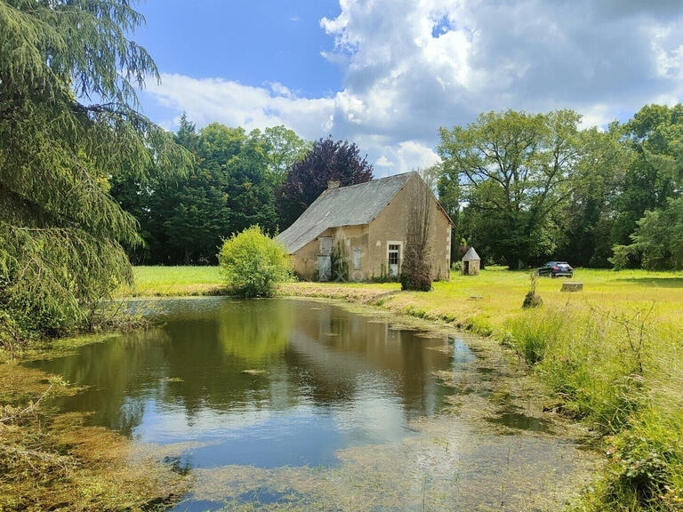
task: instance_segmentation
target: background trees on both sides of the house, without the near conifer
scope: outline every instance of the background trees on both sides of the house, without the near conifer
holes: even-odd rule
[[[647,105],[604,130],[582,129],[567,109],[489,112],[441,128],[441,163],[423,173],[454,220],[454,259],[474,245],[510,268],[683,268],[682,130],[681,105]],[[140,222],[135,263],[214,263],[232,233],[290,226],[327,180],[373,177],[355,144],[306,141],[284,126],[197,130],[182,116],[174,138],[195,157],[188,175],[112,179],[112,196]]]

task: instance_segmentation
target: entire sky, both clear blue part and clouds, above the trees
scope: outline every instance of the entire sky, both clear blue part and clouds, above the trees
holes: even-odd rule
[[[583,125],[683,99],[683,3],[659,0],[147,0],[134,39],[173,129],[285,124],[353,140],[375,175],[438,162],[438,128],[574,108]]]

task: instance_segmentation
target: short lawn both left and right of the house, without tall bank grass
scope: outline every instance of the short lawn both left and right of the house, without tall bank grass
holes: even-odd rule
[[[224,292],[219,267],[135,267],[133,288],[124,295],[173,296]],[[583,292],[559,292],[565,278],[538,280],[537,292],[545,308],[562,308],[567,303],[594,310],[631,311],[653,306],[658,321],[683,327],[683,272],[578,268],[572,281],[582,282]],[[399,292],[397,283],[293,283],[283,292],[290,294],[372,300],[382,299],[387,308],[419,316],[433,316],[457,324],[471,321],[496,327],[519,312],[529,287],[529,273],[487,268],[479,276],[451,273],[449,282],[434,284],[429,293]]]

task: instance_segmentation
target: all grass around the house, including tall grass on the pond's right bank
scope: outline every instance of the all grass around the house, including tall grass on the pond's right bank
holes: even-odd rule
[[[221,291],[217,268],[136,268],[137,295]],[[194,279],[197,276],[199,282]],[[453,275],[429,293],[398,284],[293,283],[329,297],[445,321],[514,350],[548,390],[548,407],[602,436],[605,473],[583,510],[683,509],[683,273],[579,269],[578,293],[543,278],[542,308],[523,310],[526,272]]]

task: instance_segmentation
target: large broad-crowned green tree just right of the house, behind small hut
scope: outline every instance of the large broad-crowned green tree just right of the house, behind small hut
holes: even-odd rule
[[[483,245],[510,268],[555,249],[552,218],[586,175],[580,119],[571,110],[509,110],[440,130],[444,170],[478,219],[470,243],[482,245],[477,240],[487,237]]]

